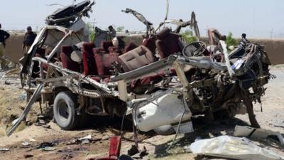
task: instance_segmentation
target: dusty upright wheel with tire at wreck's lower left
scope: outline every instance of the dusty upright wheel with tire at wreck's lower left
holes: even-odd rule
[[[72,92],[64,91],[56,95],[53,105],[55,122],[61,129],[72,130],[77,127],[81,117],[77,115],[77,97]]]

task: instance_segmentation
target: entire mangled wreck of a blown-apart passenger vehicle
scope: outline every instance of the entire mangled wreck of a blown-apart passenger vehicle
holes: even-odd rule
[[[214,50],[202,41],[185,44],[179,34],[182,27],[192,26],[200,37],[194,13],[191,21],[167,20],[154,29],[141,14],[126,9],[147,26],[143,44],[130,43],[116,52],[111,41],[102,41],[101,46],[85,42],[82,61],[76,62],[74,45],[89,36],[82,16],[93,4],[83,1],[48,16],[48,26],[21,59],[29,101],[8,134],[37,100],[53,108],[62,129],[74,129],[87,114],[131,114],[134,126],[143,132],[167,132],[160,127],[192,132],[192,116],[234,117],[244,109],[252,126],[259,127],[252,102],[261,102],[263,85],[271,78],[263,46],[247,43],[228,53],[217,33],[211,37],[220,44]],[[160,28],[165,23],[176,24],[177,29]]]

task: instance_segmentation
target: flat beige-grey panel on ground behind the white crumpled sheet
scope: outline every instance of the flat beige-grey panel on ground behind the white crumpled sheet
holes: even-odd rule
[[[236,125],[234,130],[234,136],[236,137],[253,137],[253,138],[267,138],[277,137],[281,145],[284,145],[284,138],[280,132],[274,132],[268,129],[256,129],[248,126]]]

